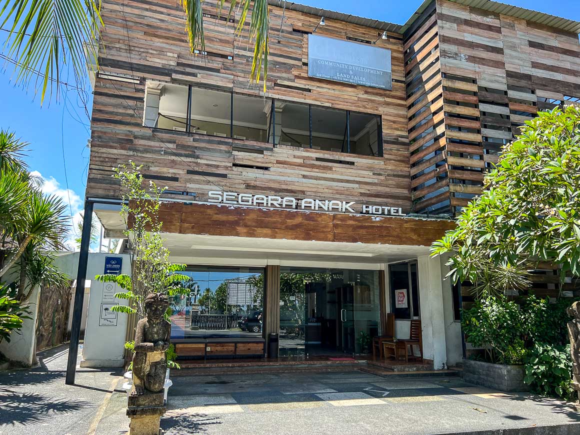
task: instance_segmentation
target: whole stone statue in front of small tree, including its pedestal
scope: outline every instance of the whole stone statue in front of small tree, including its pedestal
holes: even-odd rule
[[[164,405],[165,350],[169,347],[171,324],[163,315],[169,306],[163,293],[149,293],[145,299],[146,318],[137,322],[133,354],[133,387],[127,416],[129,435],[159,435]]]

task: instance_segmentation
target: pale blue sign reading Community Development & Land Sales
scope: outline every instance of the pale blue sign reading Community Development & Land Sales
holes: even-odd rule
[[[308,75],[391,90],[391,50],[310,34]]]

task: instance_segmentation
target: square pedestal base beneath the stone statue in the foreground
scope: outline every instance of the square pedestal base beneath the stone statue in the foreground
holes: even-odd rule
[[[163,398],[163,391],[129,396],[127,407],[127,416],[131,419],[129,435],[161,435],[163,433],[159,427],[161,416],[167,411]]]

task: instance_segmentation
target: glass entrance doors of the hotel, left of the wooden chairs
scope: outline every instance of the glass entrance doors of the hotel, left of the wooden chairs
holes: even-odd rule
[[[353,356],[378,335],[378,270],[280,268],[280,357]]]

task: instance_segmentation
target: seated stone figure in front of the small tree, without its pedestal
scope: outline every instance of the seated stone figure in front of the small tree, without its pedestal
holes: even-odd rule
[[[137,322],[135,333],[132,396],[163,390],[167,369],[165,350],[171,335],[171,323],[163,317],[168,306],[163,293],[149,293],[145,299],[147,317]]]

